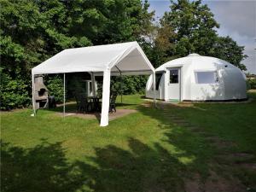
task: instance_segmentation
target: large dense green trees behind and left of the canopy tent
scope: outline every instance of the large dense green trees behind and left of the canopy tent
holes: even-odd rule
[[[139,0],[0,0],[0,6],[1,73],[9,79],[2,81],[1,105],[8,106],[2,96],[9,81],[26,84],[19,90],[26,99],[10,108],[29,103],[32,67],[67,48],[140,41],[154,16]]]

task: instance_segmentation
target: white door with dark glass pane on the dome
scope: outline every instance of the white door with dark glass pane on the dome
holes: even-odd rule
[[[181,101],[181,68],[167,68],[167,98]]]

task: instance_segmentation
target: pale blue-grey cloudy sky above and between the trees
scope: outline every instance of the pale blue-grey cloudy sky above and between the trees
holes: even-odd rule
[[[169,11],[169,0],[148,0],[149,10],[155,10],[159,19]],[[220,36],[230,36],[237,44],[245,46],[247,59],[242,61],[247,72],[256,74],[256,0],[202,0],[211,9],[215,20],[220,24]]]

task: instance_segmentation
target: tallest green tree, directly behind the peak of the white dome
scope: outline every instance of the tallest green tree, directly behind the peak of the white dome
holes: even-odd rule
[[[170,39],[175,44],[172,55],[180,57],[189,52],[208,55],[217,38],[215,28],[219,25],[207,5],[201,4],[201,0],[177,0],[172,1],[170,9],[161,22],[172,26],[176,32],[176,36]]]

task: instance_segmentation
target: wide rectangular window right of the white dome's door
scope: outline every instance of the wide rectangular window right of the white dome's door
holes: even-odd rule
[[[217,72],[195,72],[195,82],[196,84],[215,84],[218,82]]]

